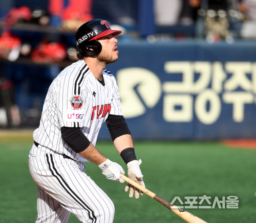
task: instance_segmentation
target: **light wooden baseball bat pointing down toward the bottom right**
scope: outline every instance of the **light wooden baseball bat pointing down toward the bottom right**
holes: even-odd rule
[[[151,192],[150,190],[140,186],[139,184],[135,183],[131,179],[125,177],[122,174],[123,180],[125,180],[127,183],[133,185],[134,187],[138,188],[142,192],[146,193],[148,196],[151,196],[153,199],[164,205],[166,208],[173,211],[175,214],[177,214],[179,217],[181,217],[183,220],[185,220],[188,223],[207,223],[206,221],[202,220],[201,218],[195,216],[194,214],[190,214],[189,212],[167,202],[166,200],[162,199],[160,196],[156,195],[155,193]]]

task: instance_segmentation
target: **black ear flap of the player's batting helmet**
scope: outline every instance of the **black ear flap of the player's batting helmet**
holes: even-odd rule
[[[102,45],[97,40],[91,40],[78,47],[79,53],[84,57],[96,56],[101,52]]]

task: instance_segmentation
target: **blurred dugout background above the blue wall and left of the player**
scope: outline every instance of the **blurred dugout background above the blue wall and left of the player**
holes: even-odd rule
[[[74,32],[94,18],[123,42],[256,39],[256,0],[0,0],[0,127],[37,125],[51,81],[77,60]]]

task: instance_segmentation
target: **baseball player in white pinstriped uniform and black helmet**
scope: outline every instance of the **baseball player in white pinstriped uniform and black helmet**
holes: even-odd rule
[[[124,182],[123,168],[95,147],[105,121],[127,164],[128,177],[145,187],[116,80],[104,68],[118,59],[114,36],[120,33],[101,19],[82,24],[75,34],[80,60],[62,70],[48,90],[29,154],[29,169],[38,191],[36,222],[68,222],[70,213],[82,222],[113,222],[113,202],[87,176],[83,163],[91,161],[107,179]],[[130,184],[125,191],[129,188],[129,196],[135,189],[138,199],[141,191]]]

